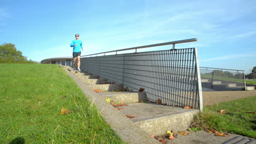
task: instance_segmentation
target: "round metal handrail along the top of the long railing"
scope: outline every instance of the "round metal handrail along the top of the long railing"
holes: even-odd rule
[[[163,45],[173,45],[172,49],[174,49],[175,44],[181,44],[181,43],[189,43],[189,42],[194,42],[197,41],[197,38],[193,38],[193,39],[184,39],[184,40],[177,40],[177,41],[170,41],[170,42],[166,42],[166,43],[159,43],[159,44],[153,44],[153,45],[144,45],[144,46],[137,46],[137,47],[130,47],[127,49],[120,49],[120,50],[114,50],[114,51],[107,51],[107,52],[100,52],[100,53],[94,53],[91,55],[85,55],[82,57],[86,57],[86,56],[92,56],[92,55],[99,55],[102,53],[109,53],[109,52],[118,52],[118,51],[127,51],[127,50],[136,50],[137,49],[142,49],[142,48],[147,48],[147,47],[154,47],[154,46],[163,46]]]

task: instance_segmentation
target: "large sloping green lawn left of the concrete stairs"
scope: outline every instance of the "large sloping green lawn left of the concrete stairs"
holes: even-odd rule
[[[124,142],[59,65],[0,64],[0,143]]]

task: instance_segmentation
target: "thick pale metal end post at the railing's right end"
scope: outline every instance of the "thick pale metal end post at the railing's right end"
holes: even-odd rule
[[[197,49],[195,49],[195,61],[196,61],[196,72],[197,72],[197,91],[199,94],[199,110],[202,112],[203,110],[203,102],[202,102],[202,86],[201,86],[201,75],[200,75],[200,68],[199,68],[199,60]]]

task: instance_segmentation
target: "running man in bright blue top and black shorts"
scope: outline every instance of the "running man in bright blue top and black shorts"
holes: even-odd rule
[[[79,34],[75,34],[75,40],[71,41],[70,47],[73,47],[73,69],[75,70],[75,61],[77,61],[77,70],[80,70],[80,56],[81,56],[81,49],[84,51],[82,46],[82,41],[79,40]]]

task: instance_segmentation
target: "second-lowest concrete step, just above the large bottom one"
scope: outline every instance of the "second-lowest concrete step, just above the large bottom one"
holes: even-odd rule
[[[139,101],[147,101],[145,92],[102,92],[98,93],[104,99],[109,98],[114,101],[122,101],[124,104],[138,103]]]

